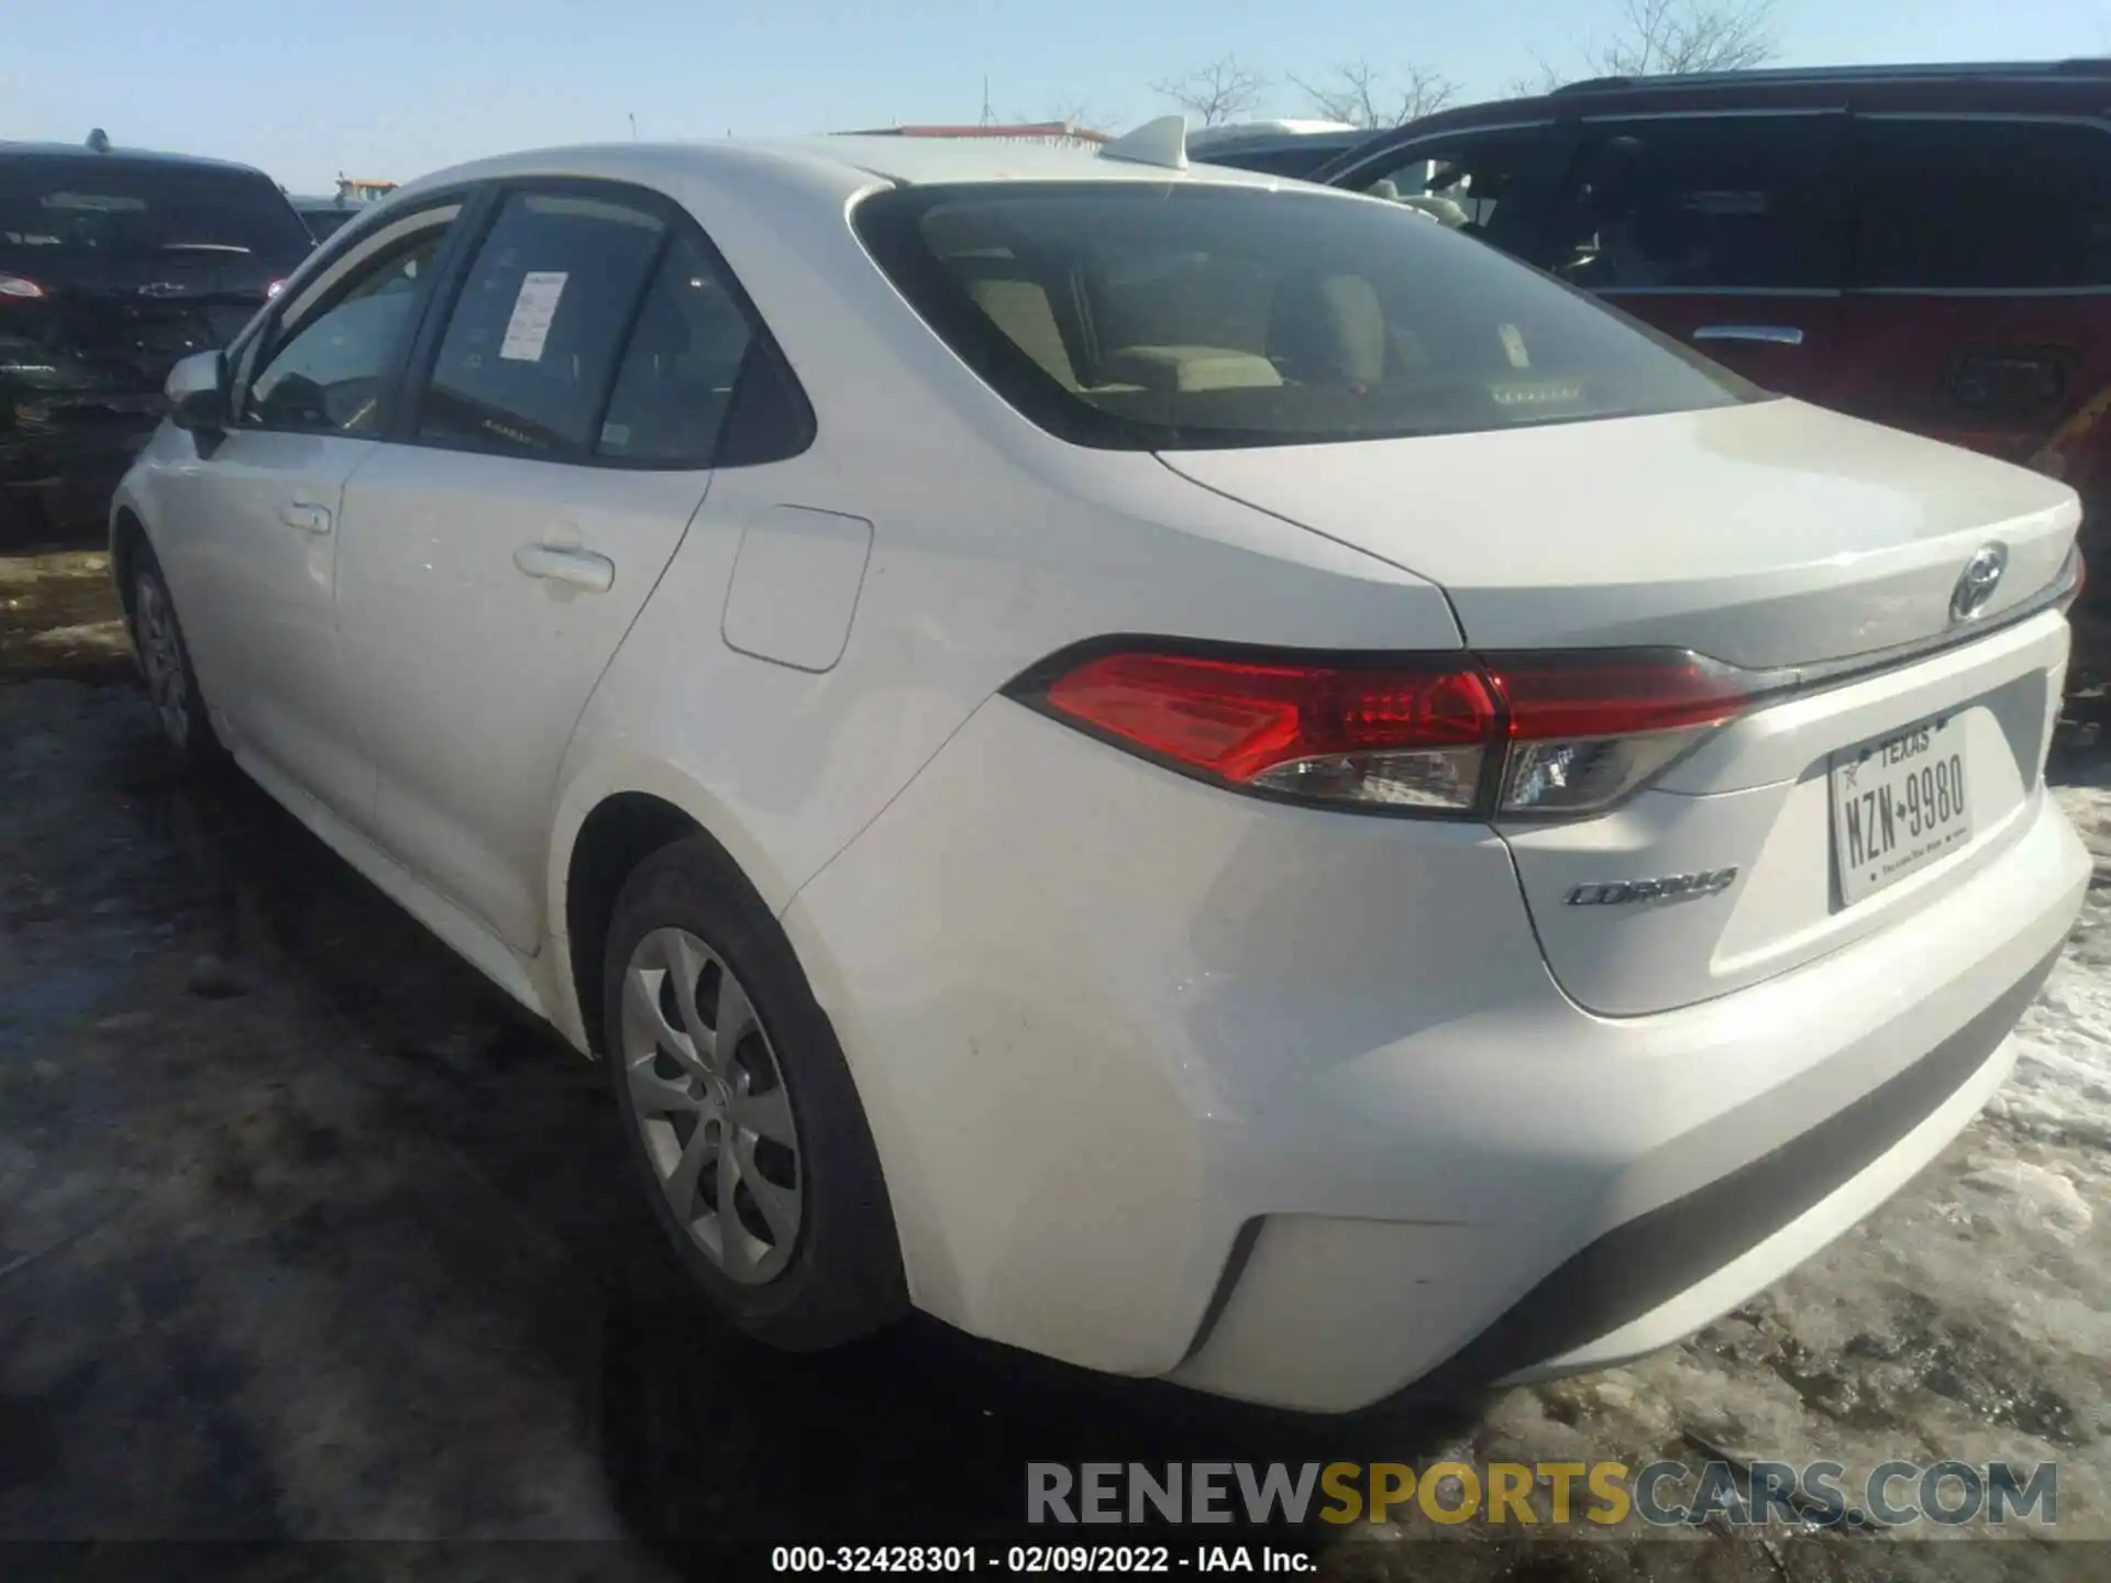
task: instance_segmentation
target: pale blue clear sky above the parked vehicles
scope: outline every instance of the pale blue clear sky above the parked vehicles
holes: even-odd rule
[[[1720,2],[1720,0],[1716,0]],[[1733,0],[1731,0],[1733,2]],[[1123,129],[1150,82],[1235,55],[1283,82],[1419,63],[1499,97],[1571,68],[1621,0],[0,0],[0,137],[112,141],[410,179],[479,154],[840,131],[1083,108]],[[1775,0],[1784,65],[2111,55],[2111,0]]]

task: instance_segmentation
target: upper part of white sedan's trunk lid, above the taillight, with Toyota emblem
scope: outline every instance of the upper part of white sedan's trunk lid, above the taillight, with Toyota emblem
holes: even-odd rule
[[[2073,494],[1799,401],[1332,445],[1161,452],[1212,490],[1444,587],[1473,648],[1693,648],[1773,669],[1942,633],[2058,576]]]

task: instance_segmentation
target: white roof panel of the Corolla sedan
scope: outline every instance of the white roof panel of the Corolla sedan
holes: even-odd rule
[[[587,144],[456,165],[407,182],[391,203],[435,188],[505,177],[587,177],[650,184],[682,177],[777,173],[821,177],[855,194],[874,177],[897,186],[982,182],[1108,182],[1279,188],[1283,177],[1195,163],[1188,169],[1108,158],[1100,150],[948,137],[821,135],[785,139],[711,139],[692,144]],[[1296,182],[1292,186],[1307,186]]]

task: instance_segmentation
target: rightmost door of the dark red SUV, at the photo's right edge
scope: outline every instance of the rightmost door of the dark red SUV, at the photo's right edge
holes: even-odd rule
[[[1847,412],[2084,483],[2111,407],[2111,125],[1856,116]]]

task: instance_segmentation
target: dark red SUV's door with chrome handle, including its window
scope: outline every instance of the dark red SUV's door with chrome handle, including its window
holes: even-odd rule
[[[1767,390],[1830,401],[1845,110],[1585,116],[1535,262]]]

